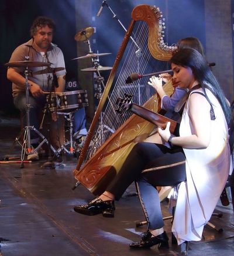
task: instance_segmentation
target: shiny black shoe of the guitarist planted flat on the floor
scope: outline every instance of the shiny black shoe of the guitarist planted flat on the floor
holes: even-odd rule
[[[169,248],[168,237],[166,232],[163,234],[157,235],[155,237],[149,230],[142,234],[142,240],[140,242],[133,242],[130,244],[130,248],[147,248],[152,247],[153,245],[159,244],[160,248]]]

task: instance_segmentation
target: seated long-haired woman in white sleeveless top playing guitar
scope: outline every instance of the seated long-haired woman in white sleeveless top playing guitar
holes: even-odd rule
[[[159,129],[161,139],[174,147],[137,143],[106,191],[90,203],[74,207],[77,213],[113,217],[114,200],[119,200],[136,181],[148,230],[140,242],[130,244],[132,248],[156,244],[168,247],[156,186],[180,184],[172,227],[178,244],[201,240],[204,225],[214,211],[229,174],[230,109],[211,69],[194,49],[178,51],[171,58],[171,69],[173,79],[189,90],[180,136],[170,133],[169,122],[165,130]]]

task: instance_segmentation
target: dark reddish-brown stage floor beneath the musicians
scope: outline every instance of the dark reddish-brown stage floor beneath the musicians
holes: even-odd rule
[[[1,160],[9,154],[20,156],[20,147],[12,144],[19,133],[19,120],[0,119]],[[157,246],[132,250],[129,244],[140,240],[146,226],[136,227],[144,215],[133,184],[121,200],[116,202],[114,218],[102,215],[85,216],[75,213],[73,206],[86,203],[94,196],[82,185],[75,190],[72,170],[77,164],[74,156],[63,156],[63,165],[56,169],[42,169],[47,161],[0,165],[0,255],[178,255],[180,248],[158,250]],[[161,204],[164,217],[170,216],[167,203]],[[191,242],[189,255],[233,255],[234,218],[232,206],[221,203],[216,212],[222,218],[212,217],[218,232],[206,225],[204,239]],[[168,236],[171,222],[165,221]]]

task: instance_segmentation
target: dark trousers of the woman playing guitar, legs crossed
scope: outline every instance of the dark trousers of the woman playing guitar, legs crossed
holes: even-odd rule
[[[156,186],[175,186],[185,181],[184,160],[181,147],[168,149],[161,144],[138,143],[130,151],[121,170],[106,190],[115,196],[115,200],[119,200],[126,188],[135,181],[148,228],[161,228],[164,223]],[[142,170],[152,167],[160,168],[142,173]]]

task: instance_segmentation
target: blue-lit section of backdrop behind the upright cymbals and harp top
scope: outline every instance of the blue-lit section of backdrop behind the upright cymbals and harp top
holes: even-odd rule
[[[123,38],[125,36],[125,29],[128,29],[131,21],[131,13],[135,6],[140,4],[159,6],[163,17],[166,19],[166,29],[164,41],[169,45],[176,43],[178,39],[187,36],[196,36],[199,38],[205,48],[205,12],[204,0],[107,0],[102,9],[101,15],[97,17],[97,13],[102,5],[102,0],[77,0],[76,10],[79,22],[77,26],[79,29],[85,26],[92,26],[95,28],[95,33],[90,38],[91,49],[93,52],[106,53],[111,55],[101,56],[99,63],[102,66],[113,66]],[[90,8],[81,7],[85,4],[91,4]],[[85,12],[86,11],[86,12]],[[85,25],[84,25],[85,24]],[[79,30],[77,29],[77,30]],[[88,53],[88,46],[82,42],[77,42],[78,56]],[[82,52],[81,52],[82,51]],[[91,66],[91,62],[85,60],[78,60],[78,75],[80,76],[81,85],[87,89],[89,101],[92,102],[92,84],[88,84],[91,78],[87,74],[80,72],[82,68]],[[119,65],[121,69],[121,64]],[[107,81],[110,71],[101,72],[104,77],[104,82]],[[88,116],[93,116],[94,111],[92,107],[97,107],[98,100],[93,100],[94,104],[89,106]]]

